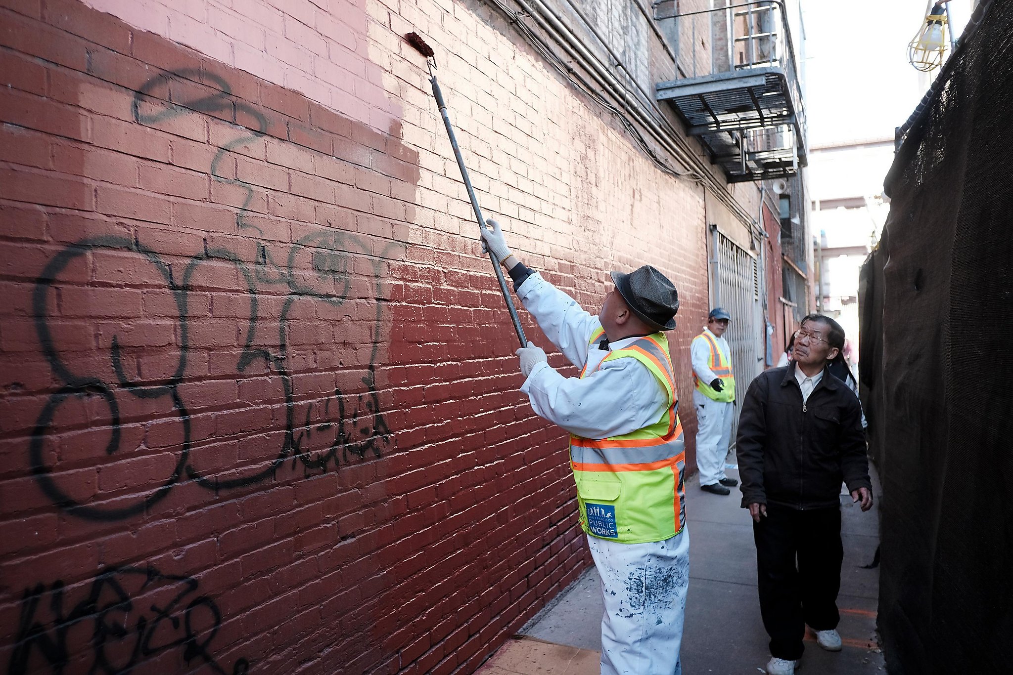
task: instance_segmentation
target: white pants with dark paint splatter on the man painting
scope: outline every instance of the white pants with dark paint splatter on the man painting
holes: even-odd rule
[[[664,541],[619,543],[588,537],[602,577],[602,675],[682,675],[687,528]]]

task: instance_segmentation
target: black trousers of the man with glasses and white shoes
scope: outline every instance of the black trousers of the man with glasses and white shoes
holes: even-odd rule
[[[830,630],[841,620],[841,509],[798,511],[768,504],[767,515],[753,524],[753,538],[771,656],[798,659],[805,624]]]

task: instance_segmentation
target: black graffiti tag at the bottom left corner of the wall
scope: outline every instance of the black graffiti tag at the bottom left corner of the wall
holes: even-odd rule
[[[72,652],[70,643],[87,635],[88,673],[126,675],[152,657],[178,649],[187,665],[198,660],[226,675],[211,654],[222,612],[214,600],[198,594],[198,587],[192,577],[166,575],[148,566],[100,572],[87,595],[74,605],[67,604],[68,592],[61,581],[49,589],[45,584],[27,588],[8,672],[37,672],[41,661],[54,673],[62,673],[72,654],[79,653]],[[239,659],[232,673],[241,675],[248,669],[246,659]]]

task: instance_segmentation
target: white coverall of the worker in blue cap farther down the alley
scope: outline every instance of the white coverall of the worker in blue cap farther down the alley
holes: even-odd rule
[[[709,329],[705,328],[704,331],[710,333]],[[713,333],[710,335],[717,343],[725,362],[730,364],[731,350],[728,341]],[[708,367],[710,345],[705,339],[693,340],[690,358],[693,372],[700,382],[709,385],[717,379],[717,375]],[[693,405],[696,406],[697,412],[697,470],[700,472],[700,485],[714,485],[724,478],[724,459],[728,454],[728,442],[731,440],[732,404],[714,401],[694,389]]]

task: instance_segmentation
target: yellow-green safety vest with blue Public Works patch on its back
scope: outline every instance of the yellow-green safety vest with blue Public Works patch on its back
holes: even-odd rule
[[[604,331],[591,336],[590,346]],[[616,349],[602,362],[635,358],[665,388],[669,406],[657,422],[611,438],[570,434],[570,468],[576,483],[580,527],[592,536],[622,543],[663,541],[686,522],[686,453],[669,341],[664,333]],[[585,364],[580,377],[587,374]]]

